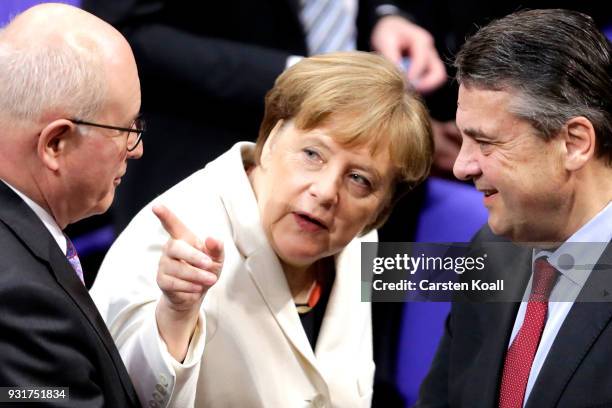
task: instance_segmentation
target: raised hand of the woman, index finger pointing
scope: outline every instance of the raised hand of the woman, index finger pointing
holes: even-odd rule
[[[170,234],[157,270],[163,293],[155,310],[157,327],[170,354],[183,361],[202,300],[221,272],[223,244],[213,238],[202,242],[162,205],[154,206],[153,213]]]

